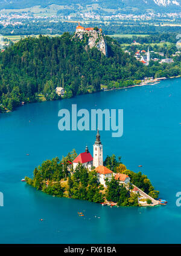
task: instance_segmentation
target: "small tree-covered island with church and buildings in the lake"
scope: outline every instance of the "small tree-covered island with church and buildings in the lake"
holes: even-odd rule
[[[159,191],[141,171],[128,170],[121,157],[107,156],[103,161],[103,144],[97,131],[94,157],[88,147],[77,155],[75,149],[62,161],[58,157],[36,167],[27,184],[56,197],[87,200],[112,206],[155,206]],[[142,167],[142,166],[139,166]]]

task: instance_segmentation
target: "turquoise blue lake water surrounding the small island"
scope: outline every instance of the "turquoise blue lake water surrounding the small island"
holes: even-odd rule
[[[180,99],[181,79],[167,79],[155,86],[27,104],[0,114],[0,243],[180,243]],[[115,153],[127,169],[142,170],[167,206],[103,207],[51,197],[21,182],[43,160],[61,158],[72,148],[84,152],[87,144],[92,153],[96,132],[58,129],[58,111],[71,109],[71,104],[88,110],[124,109],[121,138],[100,132],[104,158]],[[78,217],[80,211],[84,217]]]

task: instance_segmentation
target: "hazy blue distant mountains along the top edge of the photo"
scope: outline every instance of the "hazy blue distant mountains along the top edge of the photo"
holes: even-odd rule
[[[87,5],[97,12],[181,12],[181,0],[0,0],[0,9],[30,8],[35,5],[47,7],[51,4],[69,6],[74,12],[87,12]],[[70,10],[71,10],[70,9]]]

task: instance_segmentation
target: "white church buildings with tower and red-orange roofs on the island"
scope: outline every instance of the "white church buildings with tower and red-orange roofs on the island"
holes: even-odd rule
[[[81,163],[89,171],[96,170],[98,182],[103,184],[106,187],[106,178],[110,181],[113,176],[119,181],[119,184],[128,184],[130,178],[128,175],[122,173],[114,173],[112,170],[109,170],[106,166],[103,166],[103,144],[101,143],[101,136],[99,130],[97,130],[96,140],[93,145],[93,157],[89,152],[88,147],[83,153],[80,153],[73,161],[73,169]]]

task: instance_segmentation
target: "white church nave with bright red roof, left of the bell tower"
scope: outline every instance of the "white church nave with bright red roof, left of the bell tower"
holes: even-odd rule
[[[86,150],[83,153],[80,153],[73,161],[73,168],[75,170],[76,166],[81,163],[87,169],[91,169],[93,164],[93,157],[90,155],[89,149],[86,146]]]

